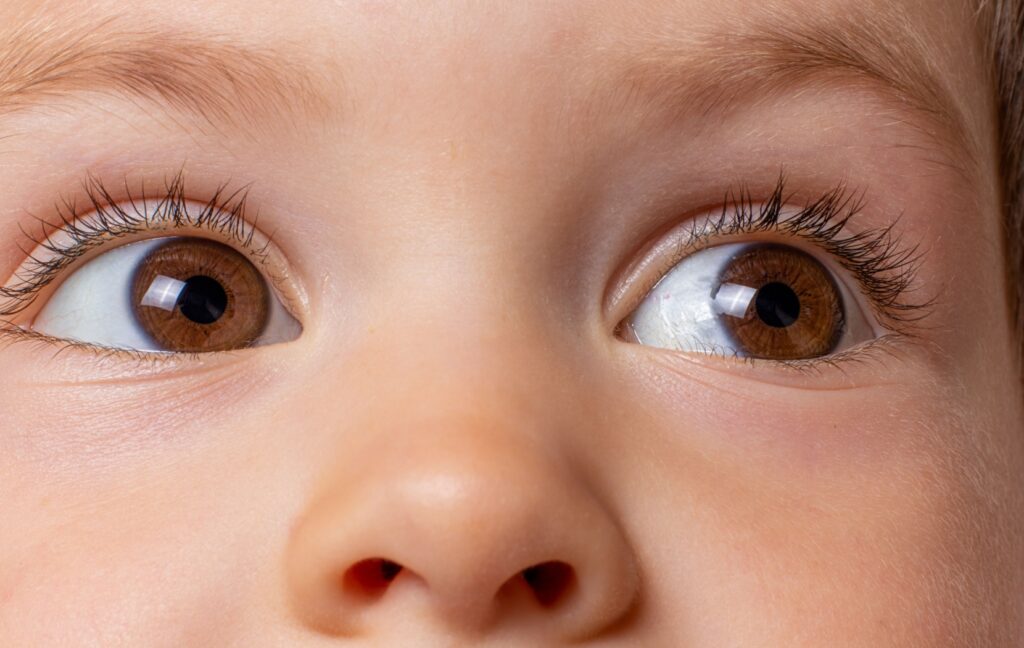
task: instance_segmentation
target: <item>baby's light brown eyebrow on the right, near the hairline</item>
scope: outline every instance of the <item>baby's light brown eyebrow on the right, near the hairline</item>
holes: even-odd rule
[[[764,18],[764,19],[761,19]],[[813,82],[860,84],[924,118],[933,139],[977,160],[965,107],[943,83],[935,44],[905,15],[761,16],[745,27],[694,40],[651,37],[629,57],[618,84],[644,113],[727,113],[750,95],[780,95]],[[635,51],[636,45],[630,49]]]

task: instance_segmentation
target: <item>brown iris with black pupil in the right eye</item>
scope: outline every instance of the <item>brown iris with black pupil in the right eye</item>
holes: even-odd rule
[[[818,357],[835,351],[843,334],[836,283],[813,257],[794,248],[763,245],[744,250],[729,262],[716,293],[749,296],[745,311],[722,315],[743,355]]]

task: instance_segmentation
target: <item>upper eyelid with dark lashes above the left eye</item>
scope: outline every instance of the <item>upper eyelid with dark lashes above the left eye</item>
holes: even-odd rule
[[[75,202],[61,200],[54,211],[56,221],[36,217],[41,233],[22,231],[33,246],[13,275],[0,286],[0,317],[13,317],[33,305],[40,292],[112,242],[153,239],[145,234],[187,235],[190,232],[214,234],[225,243],[242,248],[262,268],[278,289],[285,307],[297,318],[305,312],[307,300],[301,287],[291,282],[292,272],[272,237],[248,219],[249,186],[228,190],[226,184],[213,191],[205,202],[189,200],[184,173],[165,181],[160,198],[147,198],[144,186],[133,192],[125,180],[125,200],[118,200],[103,182],[89,176],[83,183],[85,209]]]

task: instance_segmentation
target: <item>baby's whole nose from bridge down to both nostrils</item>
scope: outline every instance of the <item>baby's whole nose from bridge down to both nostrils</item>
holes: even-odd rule
[[[561,313],[502,274],[526,259],[389,235],[401,261],[364,291],[373,323],[321,359],[303,399],[322,451],[287,555],[296,611],[376,638],[410,618],[456,633],[520,623],[542,643],[610,627],[638,578],[573,450],[598,418],[574,397],[586,383],[564,337],[547,331]],[[460,235],[478,237],[472,250],[502,242],[482,226],[429,232]]]

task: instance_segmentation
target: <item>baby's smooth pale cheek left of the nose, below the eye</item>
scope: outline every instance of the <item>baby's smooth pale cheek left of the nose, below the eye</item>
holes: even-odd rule
[[[106,438],[85,428],[77,441],[72,426],[19,428],[63,435],[66,446],[49,464],[35,450],[19,463],[0,456],[0,636],[9,645],[227,645],[282,607],[279,557],[305,468],[288,453],[289,435],[258,413],[228,419],[183,426],[174,439],[143,436],[154,431],[136,420],[132,443],[121,428]],[[104,442],[117,449],[94,451]]]

